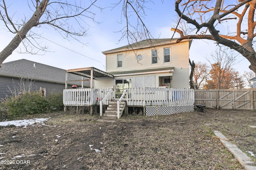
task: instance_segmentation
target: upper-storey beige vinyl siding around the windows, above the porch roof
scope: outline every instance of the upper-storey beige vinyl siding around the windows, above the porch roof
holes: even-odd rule
[[[164,48],[170,48],[170,62],[164,63]],[[158,63],[152,64],[151,50],[158,50]],[[127,51],[106,55],[106,72],[143,70],[146,68],[159,67],[183,67],[188,68],[189,42],[182,42],[170,45],[162,45],[155,48],[140,49],[137,51]],[[142,55],[143,59],[136,60],[136,55]],[[122,67],[117,68],[117,55],[123,55]],[[184,62],[187,61],[187,62]]]

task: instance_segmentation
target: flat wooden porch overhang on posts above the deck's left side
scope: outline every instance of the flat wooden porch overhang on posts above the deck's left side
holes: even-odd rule
[[[104,72],[95,67],[69,69],[69,70],[66,70],[66,75],[67,73],[76,74],[78,76],[88,78],[87,80],[90,80],[90,88],[93,88],[93,79],[102,78],[102,77],[114,78],[112,74]],[[86,81],[86,80],[77,80],[77,81]],[[66,78],[66,84],[67,84],[67,78]]]

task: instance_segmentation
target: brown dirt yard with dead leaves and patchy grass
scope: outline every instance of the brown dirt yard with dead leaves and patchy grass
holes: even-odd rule
[[[18,119],[48,117],[26,128],[0,127],[1,170],[243,170],[214,130],[256,154],[256,128],[249,126],[256,126],[255,111],[126,115],[114,123],[61,112]]]

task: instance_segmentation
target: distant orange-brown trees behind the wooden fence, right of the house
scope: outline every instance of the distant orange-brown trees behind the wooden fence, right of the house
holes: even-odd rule
[[[250,84],[250,79],[255,76],[252,71],[240,74],[232,66],[235,57],[226,47],[217,48],[214,53],[206,57],[206,62],[190,63],[190,88],[194,89],[242,89]],[[192,80],[191,80],[192,78]]]

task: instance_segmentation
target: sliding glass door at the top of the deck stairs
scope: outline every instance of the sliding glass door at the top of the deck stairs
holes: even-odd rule
[[[124,90],[126,90],[126,88],[131,88],[132,87],[132,80],[131,79],[116,79],[115,82],[115,98],[119,99]],[[124,96],[124,98],[126,98],[127,96]]]

